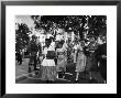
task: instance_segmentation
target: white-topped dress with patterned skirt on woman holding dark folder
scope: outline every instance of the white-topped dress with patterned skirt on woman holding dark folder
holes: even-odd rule
[[[47,58],[47,52],[55,51],[50,46],[44,48],[45,58],[42,62],[42,79],[43,80],[55,80],[56,79],[56,66],[53,58]]]

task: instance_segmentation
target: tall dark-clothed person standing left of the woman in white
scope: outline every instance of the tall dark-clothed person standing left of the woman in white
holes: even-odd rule
[[[31,66],[34,66],[34,70],[36,70],[36,54],[37,54],[37,45],[36,45],[36,36],[32,35],[32,40],[29,43],[29,53],[30,53],[30,61],[29,61],[29,73],[31,73]]]

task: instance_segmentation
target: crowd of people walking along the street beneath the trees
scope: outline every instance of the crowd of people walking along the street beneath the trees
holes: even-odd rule
[[[102,43],[98,43],[96,37],[89,40],[75,41],[55,41],[54,37],[45,40],[45,46],[36,44],[35,35],[32,36],[29,45],[29,73],[40,72],[40,78],[43,80],[54,81],[57,78],[64,78],[68,61],[75,65],[76,78],[78,83],[84,73],[88,74],[89,79],[97,83],[107,83],[107,42],[106,37]],[[21,55],[16,59],[22,64]],[[37,69],[36,65],[40,65]]]

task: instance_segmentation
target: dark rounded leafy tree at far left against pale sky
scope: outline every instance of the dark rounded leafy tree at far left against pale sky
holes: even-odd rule
[[[29,45],[29,33],[30,30],[26,24],[18,23],[18,30],[15,30],[15,51],[19,52],[22,48],[25,48]]]

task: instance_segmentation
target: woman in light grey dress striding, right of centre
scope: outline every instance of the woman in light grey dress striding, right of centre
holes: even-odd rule
[[[81,44],[78,47],[78,53],[77,53],[77,64],[76,64],[76,81],[79,79],[79,74],[81,74],[85,70],[86,67],[86,55],[84,53]]]

